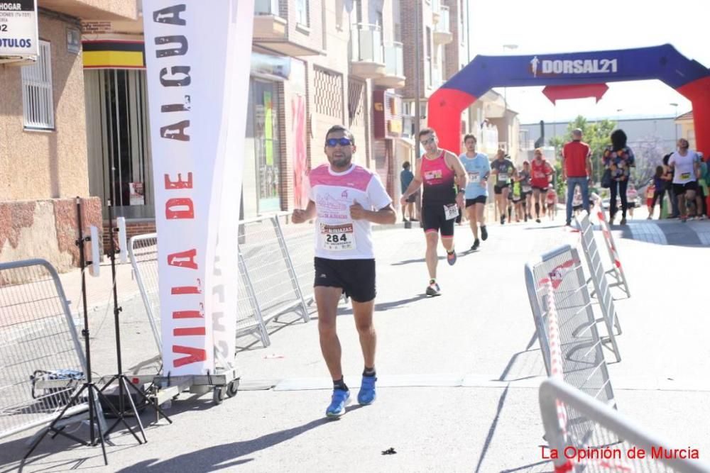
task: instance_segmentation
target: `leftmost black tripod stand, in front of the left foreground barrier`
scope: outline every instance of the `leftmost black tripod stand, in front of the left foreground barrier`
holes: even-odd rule
[[[45,438],[45,436],[51,432],[53,432],[56,435],[64,435],[67,438],[70,438],[74,440],[77,443],[81,443],[82,445],[91,445],[92,447],[97,445],[97,440],[101,443],[101,450],[104,455],[104,464],[109,464],[109,460],[106,456],[106,440],[104,439],[104,432],[102,431],[102,423],[99,421],[99,416],[103,416],[103,411],[102,409],[98,406],[99,400],[104,401],[104,404],[109,406],[111,411],[114,413],[116,416],[120,416],[118,411],[114,408],[114,406],[111,405],[111,403],[108,401],[106,396],[102,393],[102,391],[97,387],[96,384],[92,381],[92,371],[91,371],[91,349],[89,347],[89,315],[87,311],[87,286],[86,286],[86,275],[84,274],[84,269],[87,267],[87,265],[90,265],[92,262],[87,262],[84,258],[84,243],[87,241],[91,240],[90,237],[84,238],[84,233],[83,233],[83,224],[82,224],[82,204],[81,204],[81,199],[77,197],[77,222],[79,224],[79,239],[76,240],[76,245],[79,247],[79,264],[80,267],[82,268],[82,304],[84,308],[84,328],[82,329],[82,336],[84,337],[84,350],[85,350],[85,356],[86,356],[86,382],[82,384],[81,389],[75,392],[75,394],[72,396],[72,398],[67,401],[67,405],[62,409],[62,411],[59,413],[59,415],[50,423],[49,427],[40,435],[40,437],[35,440],[35,442],[31,445],[30,450],[26,453],[26,455],[23,457],[24,460],[27,460],[27,457],[29,457],[32,452],[35,450],[35,448],[40,444],[40,442]],[[75,435],[71,435],[70,433],[65,433],[64,426],[58,427],[58,423],[62,420],[64,417],[65,412],[67,411],[70,406],[75,406],[76,404],[82,404],[84,401],[84,398],[82,397],[82,394],[84,394],[84,391],[87,391],[87,396],[89,397],[89,441],[86,442]],[[126,421],[119,417],[119,420],[122,420],[126,427],[133,433],[133,430],[131,430],[131,427],[126,423]],[[94,430],[94,422],[97,423],[96,425],[96,430]],[[97,439],[97,434],[98,434],[98,439]],[[138,440],[138,443],[141,443],[141,440],[138,438],[138,436],[133,433],[133,436]]]

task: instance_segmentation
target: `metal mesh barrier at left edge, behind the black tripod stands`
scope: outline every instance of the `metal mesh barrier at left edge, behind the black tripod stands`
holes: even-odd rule
[[[0,264],[0,363],[0,438],[53,421],[85,380],[64,289],[45,260]]]

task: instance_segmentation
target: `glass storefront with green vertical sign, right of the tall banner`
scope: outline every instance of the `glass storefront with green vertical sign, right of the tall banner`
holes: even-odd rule
[[[254,150],[258,170],[258,212],[280,211],[280,143],[278,91],[273,82],[253,79]]]

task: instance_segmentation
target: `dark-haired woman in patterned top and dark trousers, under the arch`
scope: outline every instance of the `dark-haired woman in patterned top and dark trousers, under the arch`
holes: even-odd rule
[[[621,197],[621,225],[626,225],[626,188],[630,178],[631,168],[635,166],[635,157],[631,148],[626,146],[626,133],[614,130],[611,133],[611,145],[606,147],[601,157],[605,169],[611,170],[611,196],[609,199],[609,224],[614,222],[616,211],[616,196]]]

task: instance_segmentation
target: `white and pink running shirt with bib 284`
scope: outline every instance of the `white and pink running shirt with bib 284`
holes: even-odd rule
[[[350,206],[378,211],[392,203],[380,177],[353,165],[345,172],[333,172],[320,165],[308,174],[308,198],[315,202],[315,255],[329,260],[371,260],[371,223],[353,220]]]

